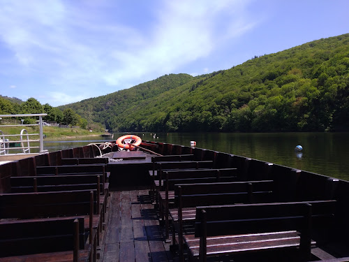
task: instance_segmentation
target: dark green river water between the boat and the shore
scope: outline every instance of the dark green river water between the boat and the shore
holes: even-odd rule
[[[134,133],[142,140],[155,140],[260,159],[283,166],[349,180],[349,133]],[[114,133],[114,140],[125,133]],[[88,137],[78,140],[50,141],[49,152],[108,140]],[[302,145],[302,152],[295,147]]]

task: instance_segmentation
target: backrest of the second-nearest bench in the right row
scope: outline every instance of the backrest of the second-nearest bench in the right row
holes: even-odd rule
[[[181,208],[198,205],[232,205],[235,203],[267,203],[273,199],[272,180],[176,184],[174,205]]]

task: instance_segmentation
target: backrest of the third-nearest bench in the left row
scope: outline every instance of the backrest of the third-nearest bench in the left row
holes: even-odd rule
[[[38,175],[10,177],[11,193],[71,191],[96,189],[100,178],[100,191],[103,192],[103,175]]]

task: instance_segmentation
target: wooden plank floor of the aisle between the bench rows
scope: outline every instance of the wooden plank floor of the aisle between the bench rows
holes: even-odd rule
[[[148,190],[112,191],[99,261],[178,261],[169,249]]]

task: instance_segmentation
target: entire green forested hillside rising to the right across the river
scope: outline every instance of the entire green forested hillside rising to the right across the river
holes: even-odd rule
[[[349,34],[60,108],[113,131],[349,130]]]

